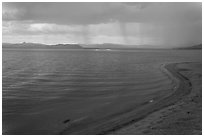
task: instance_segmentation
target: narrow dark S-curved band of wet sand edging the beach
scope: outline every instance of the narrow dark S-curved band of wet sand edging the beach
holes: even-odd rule
[[[146,118],[150,114],[157,112],[159,110],[162,110],[168,106],[174,105],[177,101],[179,101],[182,97],[188,95],[191,92],[192,84],[190,80],[182,75],[178,69],[176,68],[178,64],[184,64],[184,63],[190,63],[190,62],[180,62],[180,63],[168,63],[168,64],[162,64],[161,65],[161,71],[163,71],[165,74],[167,74],[170,79],[174,80],[176,83],[176,89],[172,94],[169,96],[162,98],[160,101],[157,101],[155,104],[149,106],[151,110],[146,113],[145,115],[141,116],[140,118],[134,119],[126,124],[123,124],[121,126],[118,126],[112,130],[108,130],[106,132],[103,132],[102,134],[110,134],[113,131],[119,130],[127,125],[131,125],[132,123],[139,122],[140,120]],[[148,108],[147,108],[148,109]],[[143,112],[141,112],[143,113]]]

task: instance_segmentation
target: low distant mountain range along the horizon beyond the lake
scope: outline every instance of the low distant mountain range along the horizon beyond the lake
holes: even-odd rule
[[[162,48],[150,48],[151,45],[121,45],[113,43],[104,43],[104,44],[56,44],[56,45],[45,45],[40,43],[2,43],[3,48],[53,48],[53,49],[162,49]],[[202,44],[193,45],[190,47],[180,47],[172,49],[202,49]]]

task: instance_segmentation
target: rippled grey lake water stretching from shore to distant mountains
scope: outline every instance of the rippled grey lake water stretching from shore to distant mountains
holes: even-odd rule
[[[77,134],[173,92],[161,64],[201,50],[3,49],[3,134]],[[96,124],[97,123],[97,124]]]

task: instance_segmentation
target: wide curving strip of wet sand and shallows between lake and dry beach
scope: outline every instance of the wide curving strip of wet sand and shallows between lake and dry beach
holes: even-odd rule
[[[153,112],[174,105],[191,92],[192,85],[190,80],[178,71],[177,63],[168,64],[165,68],[170,71],[175,78],[180,80],[178,84],[179,86],[176,88],[177,90],[175,90],[170,96],[155,98],[149,102],[141,104],[138,108],[127,110],[126,112],[121,112],[120,114],[106,118],[104,121],[98,122],[98,124],[84,125],[84,128],[81,131],[74,132],[74,130],[69,128],[63,130],[60,134],[114,134],[114,131],[138,122]],[[167,75],[173,78],[171,74]]]

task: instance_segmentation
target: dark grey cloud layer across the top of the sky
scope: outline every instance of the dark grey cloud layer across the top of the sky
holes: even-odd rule
[[[3,20],[60,24],[201,20],[200,3],[3,3]],[[10,11],[9,11],[10,10]],[[13,12],[11,12],[13,10]]]

